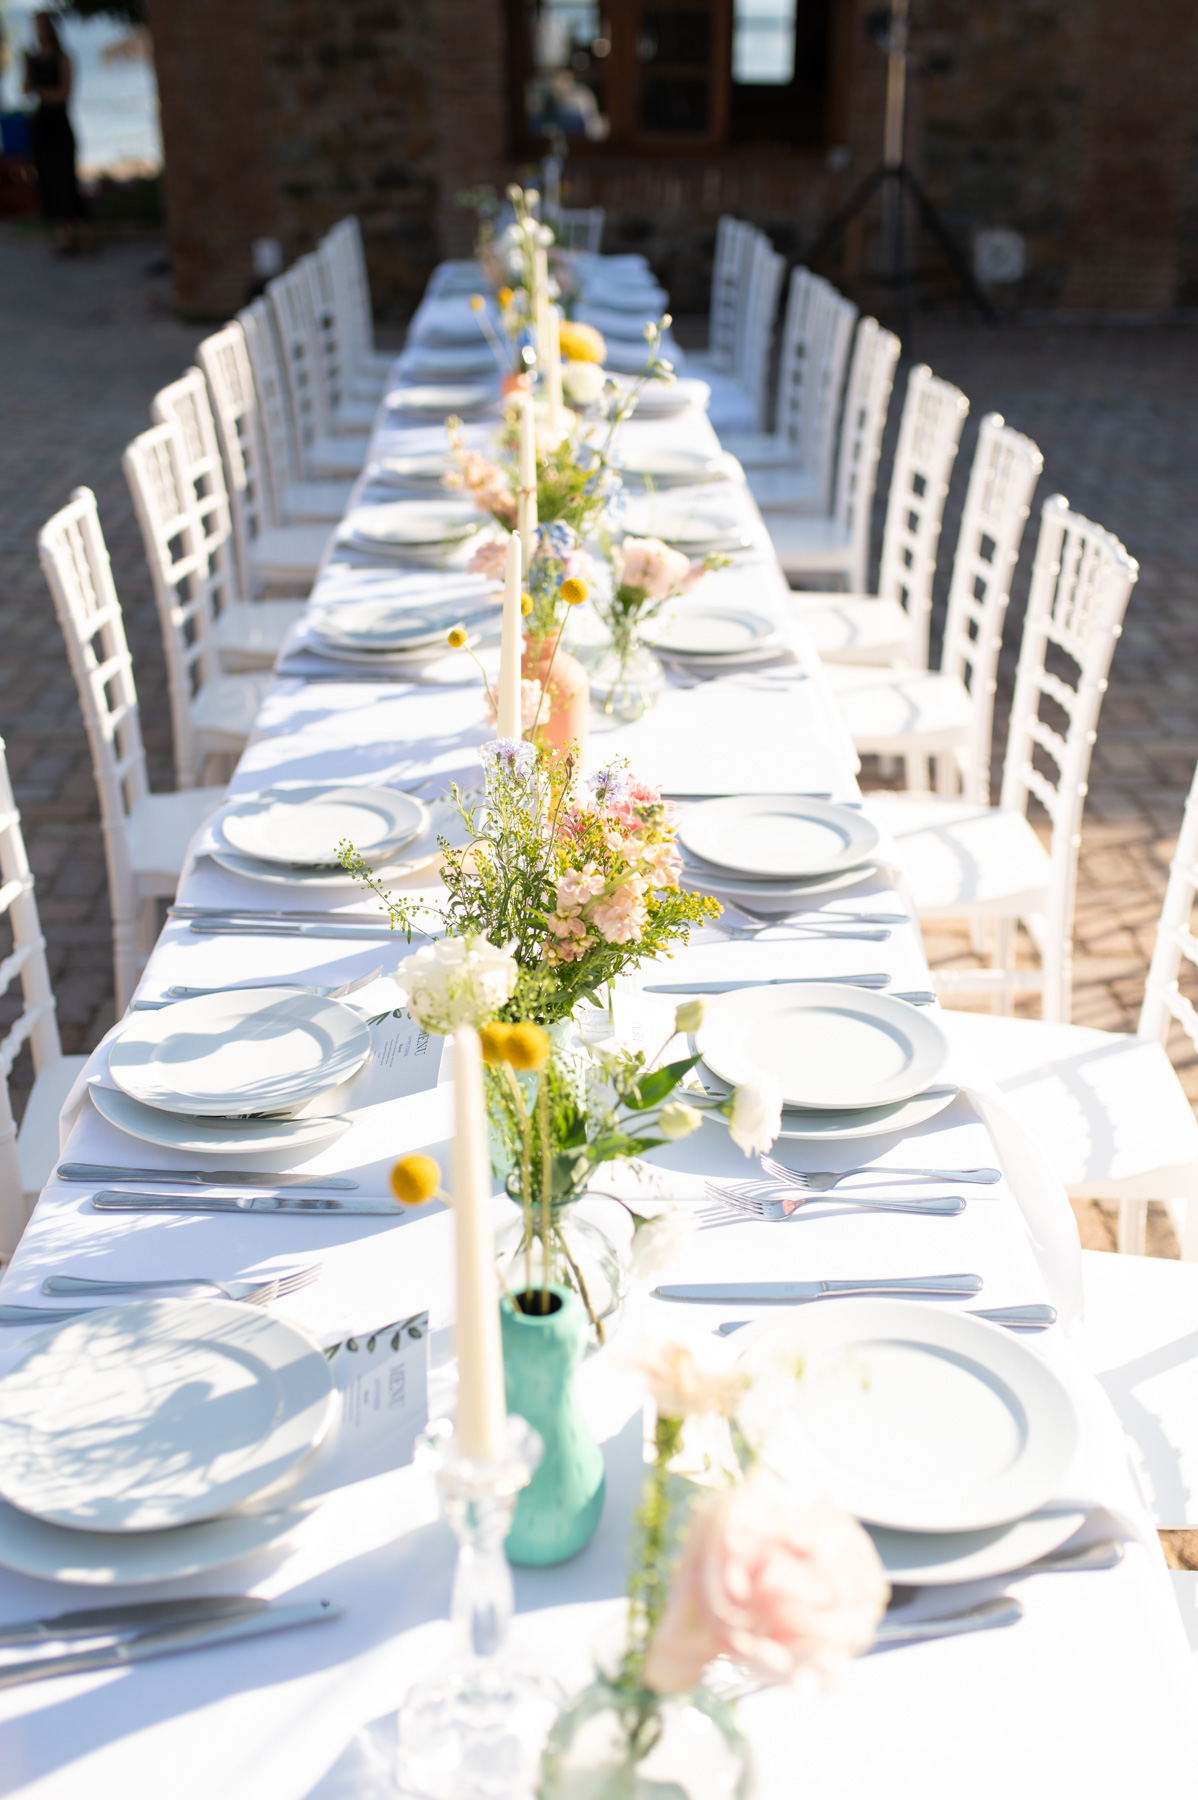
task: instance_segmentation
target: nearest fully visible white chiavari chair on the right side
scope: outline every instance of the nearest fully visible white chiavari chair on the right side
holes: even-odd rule
[[[993,923],[993,967],[941,970],[935,986],[944,995],[988,994],[995,1008],[1009,1012],[1015,994],[1036,990],[1045,1021],[1068,1021],[1086,776],[1110,659],[1137,576],[1139,565],[1119,538],[1070,513],[1059,493],[1045,500],[998,806],[986,805],[988,770],[977,740],[964,756],[971,788],[961,799],[872,794],[867,801],[871,817],[898,841],[921,918]],[[1009,576],[1004,580],[1009,585]],[[959,644],[966,641],[968,626]],[[982,646],[973,682],[989,661]],[[1045,709],[1061,720],[1059,731]],[[1031,799],[1049,814],[1049,850],[1027,819]],[[1015,970],[1016,922],[1040,950],[1038,970]]]

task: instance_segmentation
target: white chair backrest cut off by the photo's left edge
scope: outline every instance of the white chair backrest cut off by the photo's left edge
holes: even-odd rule
[[[0,994],[7,994],[18,976],[22,981],[22,1013],[0,1042],[0,1256],[7,1258],[16,1249],[27,1222],[9,1076],[25,1042],[31,1044],[36,1075],[61,1058],[63,1046],[54,1019],[54,990],[45,961],[34,878],[22,837],[22,815],[13,799],[4,738],[0,738],[0,914],[4,913],[13,927],[13,949],[0,961]]]

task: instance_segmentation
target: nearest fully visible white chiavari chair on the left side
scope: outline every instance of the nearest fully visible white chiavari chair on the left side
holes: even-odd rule
[[[164,427],[158,427],[162,434]],[[38,536],[38,554],[67,641],[101,808],[112,911],[117,1013],[130,1004],[158,934],[156,902],[173,900],[187,844],[221,805],[218,787],[151,794],[121,601],[90,488]]]

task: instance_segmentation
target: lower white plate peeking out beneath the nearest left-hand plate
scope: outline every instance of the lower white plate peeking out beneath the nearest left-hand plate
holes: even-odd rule
[[[306,1505],[286,1512],[230,1512],[165,1532],[76,1532],[0,1501],[0,1566],[83,1588],[182,1580],[272,1550],[313,1510]]]

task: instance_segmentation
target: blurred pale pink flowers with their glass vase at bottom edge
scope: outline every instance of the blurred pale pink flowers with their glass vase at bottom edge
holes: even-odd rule
[[[725,1687],[829,1679],[872,1643],[889,1584],[856,1519],[761,1462],[750,1373],[703,1368],[684,1345],[653,1348],[640,1368],[657,1422],[626,1634],[549,1733],[536,1793],[745,1800],[748,1748],[705,1670],[725,1660]],[[716,1424],[725,1444],[703,1458],[702,1483],[685,1472],[694,1424]]]

